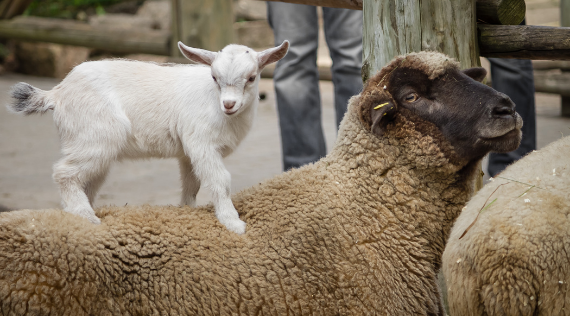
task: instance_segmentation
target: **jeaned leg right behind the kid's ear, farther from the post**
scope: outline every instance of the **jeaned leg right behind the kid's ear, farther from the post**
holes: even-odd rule
[[[326,155],[317,71],[317,8],[267,2],[267,11],[275,45],[284,40],[291,44],[287,55],[277,62],[273,75],[283,169],[289,170]]]

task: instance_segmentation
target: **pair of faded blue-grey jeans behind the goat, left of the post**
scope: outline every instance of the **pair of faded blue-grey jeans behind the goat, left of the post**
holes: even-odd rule
[[[277,63],[273,80],[277,97],[283,169],[300,167],[326,155],[321,125],[317,70],[317,7],[267,2],[275,45],[289,40],[289,52]],[[325,38],[333,65],[337,127],[348,99],[362,90],[362,11],[323,8]]]

